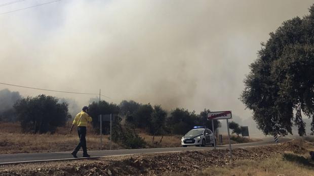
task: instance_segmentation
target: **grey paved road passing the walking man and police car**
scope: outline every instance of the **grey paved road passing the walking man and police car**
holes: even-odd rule
[[[280,142],[287,142],[292,139],[280,138]],[[261,146],[275,144],[273,138],[265,138],[263,141],[232,144],[231,148],[243,148],[251,146]],[[217,149],[226,149],[229,145],[217,146]],[[214,147],[174,147],[174,148],[150,148],[150,149],[126,149],[126,150],[102,150],[102,151],[89,151],[91,158],[116,156],[116,155],[132,155],[142,153],[166,153],[166,152],[181,152],[192,150],[211,150]],[[82,157],[82,152],[78,152],[78,157]],[[74,160],[82,158],[72,158],[70,152],[53,152],[53,153],[21,153],[21,154],[1,154],[0,165],[13,164],[13,163],[26,163],[26,162],[42,162],[42,161],[55,161],[55,160]]]

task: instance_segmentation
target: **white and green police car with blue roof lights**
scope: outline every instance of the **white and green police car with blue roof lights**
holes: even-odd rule
[[[205,126],[197,126],[182,137],[181,145],[182,147],[188,145],[204,147],[207,144],[214,146],[214,140],[216,141],[216,138],[214,138],[214,134],[210,129],[207,129]]]

